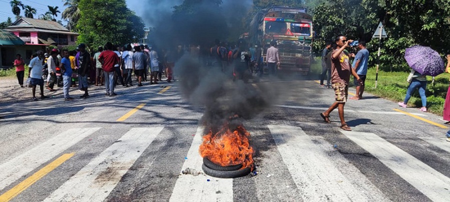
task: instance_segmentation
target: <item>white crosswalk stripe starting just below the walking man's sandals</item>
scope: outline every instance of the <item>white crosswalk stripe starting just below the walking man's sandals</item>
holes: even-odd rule
[[[341,131],[435,202],[450,199],[450,179],[373,133]]]

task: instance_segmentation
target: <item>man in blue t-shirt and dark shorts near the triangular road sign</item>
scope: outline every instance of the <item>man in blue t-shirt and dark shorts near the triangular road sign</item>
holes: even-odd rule
[[[356,56],[353,60],[353,70],[358,74],[361,79],[361,83],[354,77],[354,86],[356,86],[356,95],[351,97],[352,100],[362,99],[362,93],[364,92],[364,84],[365,84],[365,75],[367,74],[367,63],[369,52],[367,48],[365,48],[365,41],[359,41],[358,43],[359,51],[356,53]]]

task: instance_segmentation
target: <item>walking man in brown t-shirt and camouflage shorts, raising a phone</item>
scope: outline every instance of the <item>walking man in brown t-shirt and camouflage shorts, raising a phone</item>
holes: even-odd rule
[[[353,40],[347,40],[343,35],[338,35],[335,38],[337,48],[333,50],[331,55],[331,86],[334,89],[336,101],[320,116],[326,123],[329,121],[329,113],[337,108],[339,112],[340,128],[342,130],[351,131],[351,128],[345,123],[343,108],[348,97],[348,82],[350,80],[350,74],[352,74],[360,84],[362,80],[356,74],[353,68],[350,66],[350,59],[344,49],[348,47],[349,43]]]

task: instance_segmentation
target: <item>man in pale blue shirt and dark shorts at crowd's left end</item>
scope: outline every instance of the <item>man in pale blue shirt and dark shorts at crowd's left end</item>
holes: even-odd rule
[[[33,101],[37,101],[36,98],[36,86],[40,86],[40,98],[44,99],[47,98],[47,96],[43,95],[43,79],[42,79],[42,57],[43,52],[42,50],[38,50],[36,52],[36,57],[32,58],[31,61],[29,61],[29,67],[31,68],[31,71],[29,72],[29,77],[31,78],[30,84],[33,86],[32,93],[33,93]]]

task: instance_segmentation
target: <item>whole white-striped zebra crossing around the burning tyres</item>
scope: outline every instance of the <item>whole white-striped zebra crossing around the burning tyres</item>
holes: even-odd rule
[[[391,201],[369,178],[345,157],[336,152],[333,145],[318,136],[308,135],[301,127],[289,125],[263,126],[270,132],[274,142],[273,150],[261,151],[256,160],[259,170],[264,166],[279,169],[273,162],[281,162],[287,172],[277,174],[263,173],[254,177],[244,177],[255,184],[255,201]],[[68,129],[41,143],[23,154],[5,161],[0,165],[0,202],[14,201],[14,197],[32,183],[10,193],[26,176],[44,167],[61,156],[68,148],[89,138],[102,128]],[[142,157],[142,153],[152,147],[154,140],[164,127],[130,128],[112,145],[89,163],[70,176],[59,187],[44,194],[42,199],[29,201],[44,202],[101,202],[107,201],[114,188],[126,178],[126,173]],[[171,187],[161,187],[153,192],[169,192],[169,197],[160,201],[170,202],[232,202],[241,201],[240,192],[235,190],[236,183],[242,179],[218,179],[206,175],[181,175],[181,171],[190,168],[201,171],[202,159],[198,147],[202,142],[204,128],[198,127],[191,142],[186,142],[189,150],[184,161],[174,162],[179,173]],[[252,131],[249,131],[252,133]],[[417,189],[431,201],[450,200],[450,179],[444,174],[422,162],[394,144],[374,133],[340,131],[377,161],[385,165],[401,179]],[[254,137],[257,138],[257,137]],[[448,154],[448,144],[439,138],[418,137],[426,143],[442,149]],[[168,139],[164,144],[170,144]],[[276,153],[277,155],[270,155]],[[76,151],[74,154],[76,156]],[[267,156],[264,156],[267,155]],[[62,164],[74,163],[70,161]],[[448,162],[447,162],[448,164]],[[152,165],[149,165],[152,166]],[[55,172],[49,170],[48,173]],[[42,170],[42,169],[41,169]],[[382,174],[379,174],[382,175]],[[38,181],[37,178],[35,181]],[[146,181],[146,179],[141,179]],[[26,181],[26,180],[25,180]],[[290,184],[289,182],[293,183]],[[272,187],[272,188],[271,188]],[[272,189],[272,190],[267,190]],[[151,194],[151,193],[150,193]]]

